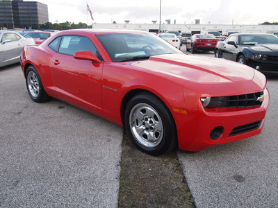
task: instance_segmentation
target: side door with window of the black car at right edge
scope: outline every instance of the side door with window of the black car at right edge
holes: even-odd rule
[[[234,42],[236,46],[234,44],[228,44],[228,42]],[[236,61],[236,55],[238,53],[237,45],[238,41],[236,36],[228,37],[227,40],[224,41],[224,46],[222,49],[223,58]]]

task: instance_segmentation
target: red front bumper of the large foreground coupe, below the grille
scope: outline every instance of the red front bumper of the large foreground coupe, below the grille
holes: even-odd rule
[[[269,105],[268,89],[264,90],[265,100],[261,107],[220,108],[217,110],[188,111],[186,115],[179,115],[177,132],[179,148],[197,152],[218,144],[229,143],[259,135],[263,130],[265,113]],[[177,115],[176,115],[177,116]],[[242,129],[256,123],[256,128],[233,135],[235,129]],[[215,128],[222,128],[222,134],[217,139],[211,139],[211,132]]]

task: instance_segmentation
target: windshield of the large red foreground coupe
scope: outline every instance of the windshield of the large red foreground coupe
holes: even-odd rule
[[[182,53],[171,44],[149,33],[96,35],[113,62],[144,60],[152,55]]]

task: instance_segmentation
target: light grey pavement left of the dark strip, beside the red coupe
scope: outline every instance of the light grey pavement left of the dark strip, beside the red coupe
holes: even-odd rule
[[[0,207],[117,207],[122,127],[31,101],[19,64],[0,68],[0,106]]]

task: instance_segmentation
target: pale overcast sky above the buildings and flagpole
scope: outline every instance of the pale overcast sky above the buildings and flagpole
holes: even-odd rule
[[[30,0],[28,0],[30,1]],[[31,0],[33,1],[33,0]],[[35,0],[34,0],[35,1]],[[49,21],[70,21],[88,24],[159,22],[160,0],[36,0],[48,5]],[[161,0],[161,23],[174,19],[177,24],[260,24],[278,22],[277,0]],[[94,21],[87,16],[86,3],[92,10]]]

